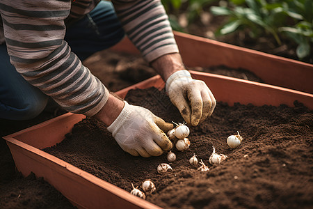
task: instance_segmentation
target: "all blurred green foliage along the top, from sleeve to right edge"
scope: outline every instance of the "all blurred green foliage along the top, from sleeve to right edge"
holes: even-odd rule
[[[184,11],[192,24],[206,8],[227,20],[215,31],[216,36],[228,36],[244,31],[256,40],[273,37],[273,45],[296,45],[301,61],[313,59],[313,1],[312,0],[162,0],[172,28],[186,31],[178,15]],[[188,26],[188,25],[187,25]]]

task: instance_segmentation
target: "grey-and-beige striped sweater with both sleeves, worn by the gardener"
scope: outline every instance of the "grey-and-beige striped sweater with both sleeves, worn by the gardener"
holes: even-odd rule
[[[29,83],[67,111],[93,116],[109,96],[64,40],[65,22],[78,20],[98,0],[1,0],[0,41]],[[178,52],[159,0],[112,0],[127,36],[147,61]]]

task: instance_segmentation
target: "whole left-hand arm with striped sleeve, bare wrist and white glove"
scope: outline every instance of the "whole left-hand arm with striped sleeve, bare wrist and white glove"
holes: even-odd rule
[[[131,155],[150,157],[172,148],[161,131],[172,124],[115,98],[71,52],[64,41],[70,3],[1,1],[8,54],[17,71],[67,111],[94,116],[109,125],[115,140]]]

